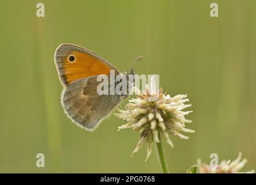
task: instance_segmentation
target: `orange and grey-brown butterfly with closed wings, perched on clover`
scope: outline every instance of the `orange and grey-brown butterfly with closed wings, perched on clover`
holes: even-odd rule
[[[140,58],[138,58],[140,60]],[[63,85],[61,104],[67,116],[79,127],[93,131],[119,105],[124,94],[99,95],[98,75],[108,75],[111,70],[120,75],[104,58],[81,46],[62,44],[54,54],[58,77]],[[134,70],[125,73],[134,75]]]

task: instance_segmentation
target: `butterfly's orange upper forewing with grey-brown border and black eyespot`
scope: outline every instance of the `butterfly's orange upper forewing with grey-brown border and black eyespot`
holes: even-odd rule
[[[54,60],[64,86],[85,77],[109,75],[110,70],[119,73],[107,60],[80,46],[70,44],[58,46]]]

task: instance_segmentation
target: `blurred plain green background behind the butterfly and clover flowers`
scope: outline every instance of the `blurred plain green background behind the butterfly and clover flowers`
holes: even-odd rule
[[[36,3],[45,16],[36,17]],[[219,17],[209,16],[210,3]],[[54,65],[60,43],[95,51],[120,71],[137,56],[139,74],[160,74],[170,95],[188,94],[189,140],[164,142],[170,172],[198,158],[242,151],[256,168],[256,1],[1,1],[0,172],[161,172],[155,147],[133,158],[139,134],[112,115],[94,132],[65,116]],[[45,154],[45,168],[36,154]]]

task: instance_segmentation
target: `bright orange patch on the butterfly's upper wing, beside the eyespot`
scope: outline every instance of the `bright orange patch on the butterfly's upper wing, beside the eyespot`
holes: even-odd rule
[[[69,61],[67,56],[63,64],[64,77],[67,84],[89,76],[109,75],[111,68],[105,62],[98,60],[98,58],[79,51],[72,51],[71,54],[74,54],[75,61]]]

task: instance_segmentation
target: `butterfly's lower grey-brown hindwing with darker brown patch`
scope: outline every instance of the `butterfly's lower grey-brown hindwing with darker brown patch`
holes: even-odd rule
[[[93,130],[120,102],[118,95],[98,95],[97,76],[69,84],[61,95],[65,113],[80,127]]]

